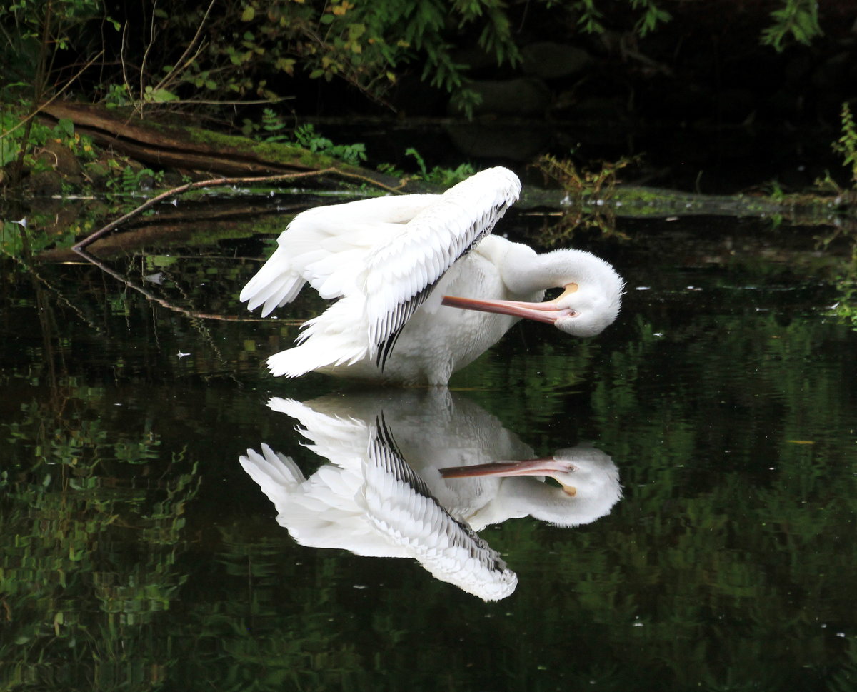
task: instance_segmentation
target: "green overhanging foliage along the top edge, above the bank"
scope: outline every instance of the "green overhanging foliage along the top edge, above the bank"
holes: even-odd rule
[[[99,65],[96,97],[106,104],[212,106],[283,98],[287,78],[342,80],[378,103],[399,75],[414,72],[470,112],[460,49],[477,46],[495,66],[520,60],[519,32],[529,15],[566,32],[626,31],[647,36],[671,20],[656,0],[538,0],[530,8],[501,0],[293,0],[262,3],[141,3],[140,26],[108,14],[102,0],[12,0],[0,6],[0,89],[45,92],[69,87],[74,70]],[[122,10],[120,10],[122,11]],[[136,11],[136,9],[135,9]],[[780,0],[762,41],[782,50],[821,33],[813,0]],[[117,32],[119,36],[117,36]],[[62,57],[63,60],[57,60]],[[71,58],[69,60],[69,57]],[[285,80],[283,78],[286,78]]]

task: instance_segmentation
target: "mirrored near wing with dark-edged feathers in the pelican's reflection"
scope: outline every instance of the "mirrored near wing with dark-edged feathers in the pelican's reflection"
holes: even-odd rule
[[[365,470],[369,521],[442,582],[482,600],[500,600],[518,577],[491,546],[453,518],[405,462],[383,419],[369,439]]]

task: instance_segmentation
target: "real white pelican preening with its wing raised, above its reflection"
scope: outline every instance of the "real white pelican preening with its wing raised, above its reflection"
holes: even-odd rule
[[[511,170],[497,167],[440,195],[298,214],[240,299],[266,316],[309,282],[322,298],[337,300],[303,325],[299,345],[270,356],[268,369],[286,377],[315,370],[446,385],[518,319],[578,337],[601,332],[620,308],[623,283],[611,265],[583,250],[536,254],[489,235],[520,188]],[[565,290],[540,302],[550,288]]]

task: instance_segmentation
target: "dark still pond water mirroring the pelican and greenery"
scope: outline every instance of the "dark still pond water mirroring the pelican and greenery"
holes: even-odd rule
[[[626,277],[615,325],[518,325],[435,395],[269,378],[297,327],[234,319],[261,238],[105,257],[129,283],[4,256],[3,689],[854,689],[857,335],[830,309],[849,248],[728,218],[620,230],[579,239]],[[459,517],[524,515],[477,527],[494,563],[467,588],[505,561],[511,592],[486,602],[355,500],[381,414],[433,492],[438,464],[575,448],[600,481],[548,516],[572,528],[466,481]],[[335,547],[279,527],[239,463],[262,444],[345,488],[345,533],[293,505]]]

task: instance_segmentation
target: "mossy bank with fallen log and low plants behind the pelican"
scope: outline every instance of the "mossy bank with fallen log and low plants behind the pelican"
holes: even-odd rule
[[[93,104],[45,104],[38,117],[37,128],[46,134],[42,135],[41,146],[25,159],[30,170],[18,199],[36,196],[124,200],[122,208],[126,213],[121,221],[145,212],[162,198],[175,200],[200,188],[240,186],[264,188],[274,194],[279,186],[291,187],[294,182],[303,183],[304,188],[338,189],[356,196],[440,192],[474,170],[470,166],[428,170],[414,150],[410,153],[418,164],[416,174],[406,175],[392,166],[370,170],[359,165],[365,159],[363,145],[336,146],[312,128],[304,130],[301,146],[285,140],[285,135],[268,140],[227,135],[205,128],[139,120],[129,111]],[[835,146],[846,163],[854,167],[857,181],[857,134],[847,105],[842,120],[842,137]],[[279,130],[280,125],[273,120],[268,122],[269,133]],[[752,194],[699,194],[622,182],[623,170],[632,169],[635,163],[631,158],[622,158],[586,169],[571,160],[542,156],[528,170],[533,178],[541,174],[544,184],[525,185],[516,208],[560,217],[559,223],[542,238],[548,244],[570,237],[578,228],[613,233],[616,218],[704,214],[830,226],[849,235],[857,230],[857,185],[842,188],[830,176],[818,181],[814,189],[795,194],[776,189]],[[137,204],[140,194],[147,200]],[[136,206],[129,208],[132,202]],[[99,229],[99,236],[116,225],[116,220],[111,221]],[[82,240],[75,234],[61,245],[81,245]]]

